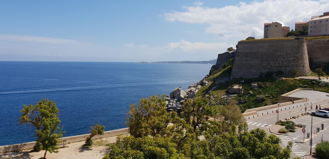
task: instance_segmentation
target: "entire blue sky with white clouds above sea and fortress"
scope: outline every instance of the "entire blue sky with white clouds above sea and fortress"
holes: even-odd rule
[[[329,0],[0,1],[0,61],[208,61]]]

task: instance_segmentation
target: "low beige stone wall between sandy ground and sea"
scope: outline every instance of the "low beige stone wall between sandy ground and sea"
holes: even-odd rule
[[[124,135],[124,134],[128,134],[128,133],[129,133],[129,128],[123,128],[123,129],[106,131],[106,132],[104,132],[103,135],[95,135],[92,139]],[[60,138],[59,141],[66,140],[65,143],[85,141],[87,139],[87,137],[89,137],[89,135],[90,135],[90,133],[83,134],[83,135],[67,136],[67,137]],[[36,144],[36,142],[33,141],[33,142],[27,142],[27,143],[22,143],[22,144],[0,146],[0,153],[33,149],[33,146],[35,144]]]

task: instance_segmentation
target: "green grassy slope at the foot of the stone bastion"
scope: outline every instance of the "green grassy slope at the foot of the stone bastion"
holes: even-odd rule
[[[211,76],[208,80],[216,79],[219,77],[227,77],[230,75],[231,67]],[[241,111],[244,112],[246,109],[262,107],[266,105],[276,104],[279,102],[279,97],[282,94],[290,92],[297,88],[313,88],[317,91],[327,92],[329,93],[329,86],[319,86],[317,83],[311,83],[311,80],[299,80],[299,79],[266,79],[266,78],[251,78],[251,79],[244,79],[244,84],[240,84],[237,80],[229,80],[225,83],[215,84],[215,82],[210,82],[209,85],[202,87],[199,92],[198,96],[206,95],[211,88],[217,86],[213,91],[212,95],[215,95],[215,103],[218,105],[223,105],[224,100],[221,98],[228,87],[232,85],[240,85],[243,87],[243,93],[235,96],[233,99],[240,101],[240,108]],[[258,83],[260,86],[257,89],[251,90],[249,88],[250,83]],[[307,85],[307,86],[306,86]],[[249,96],[248,92],[252,91],[253,95]],[[258,103],[256,101],[257,95],[263,95],[265,97],[265,101]],[[266,96],[267,95],[267,96]]]

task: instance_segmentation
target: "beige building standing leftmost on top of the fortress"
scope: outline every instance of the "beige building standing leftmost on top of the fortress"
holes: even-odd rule
[[[289,31],[290,27],[279,22],[264,23],[264,38],[283,38]]]

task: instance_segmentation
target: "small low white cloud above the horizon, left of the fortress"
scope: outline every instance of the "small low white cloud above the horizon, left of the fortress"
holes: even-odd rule
[[[231,44],[232,45],[232,44]],[[200,50],[220,50],[228,48],[229,44],[226,43],[212,43],[206,44],[201,42],[191,43],[184,39],[177,43],[167,44],[167,50],[169,51],[200,51]]]

